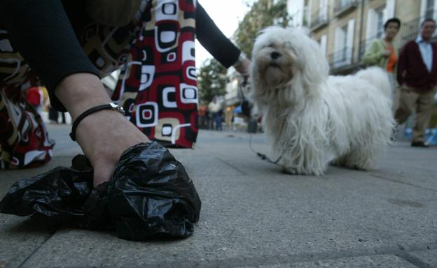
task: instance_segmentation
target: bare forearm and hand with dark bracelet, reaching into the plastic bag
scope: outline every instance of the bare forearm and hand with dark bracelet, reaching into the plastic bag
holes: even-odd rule
[[[65,77],[55,95],[75,120],[85,110],[111,102],[99,77],[76,73]],[[149,142],[123,114],[102,110],[85,117],[76,128],[76,140],[94,168],[94,185],[109,181],[125,149]]]

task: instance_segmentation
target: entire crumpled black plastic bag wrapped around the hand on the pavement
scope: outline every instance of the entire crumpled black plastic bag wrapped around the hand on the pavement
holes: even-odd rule
[[[85,156],[15,183],[0,212],[40,215],[90,229],[115,228],[118,237],[144,241],[157,235],[188,237],[201,202],[183,165],[157,142],[137,144],[120,157],[111,181],[92,188]]]

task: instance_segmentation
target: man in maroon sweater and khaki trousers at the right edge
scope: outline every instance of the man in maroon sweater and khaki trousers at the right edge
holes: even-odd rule
[[[398,124],[402,124],[412,112],[416,112],[411,141],[413,147],[429,147],[425,131],[431,119],[437,89],[437,45],[431,43],[435,29],[434,20],[424,20],[420,36],[410,40],[399,54],[397,78],[401,86],[401,100],[395,118]]]

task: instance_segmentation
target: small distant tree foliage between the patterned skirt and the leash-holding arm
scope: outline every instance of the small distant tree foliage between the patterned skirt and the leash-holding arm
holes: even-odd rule
[[[209,103],[214,96],[226,94],[226,68],[216,59],[203,62],[197,73],[200,101]]]

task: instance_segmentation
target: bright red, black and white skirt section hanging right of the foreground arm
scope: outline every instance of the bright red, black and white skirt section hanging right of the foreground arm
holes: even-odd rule
[[[195,1],[153,0],[113,101],[151,140],[191,148],[197,137]]]

